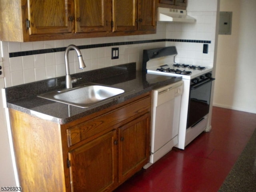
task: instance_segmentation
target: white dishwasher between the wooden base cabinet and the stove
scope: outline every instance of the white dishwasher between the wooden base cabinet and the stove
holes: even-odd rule
[[[151,154],[144,169],[178,144],[180,103],[183,81],[153,90],[151,114]]]

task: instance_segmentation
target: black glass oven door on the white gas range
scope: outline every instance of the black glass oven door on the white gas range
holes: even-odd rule
[[[213,80],[209,78],[190,86],[187,129],[195,126],[209,113]]]

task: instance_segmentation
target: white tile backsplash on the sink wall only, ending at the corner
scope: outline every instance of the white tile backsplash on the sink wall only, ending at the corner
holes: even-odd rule
[[[15,57],[10,57],[9,53],[60,48],[66,47],[69,44],[82,46],[111,42],[128,42],[136,40],[165,38],[165,32],[161,32],[161,27],[159,27],[159,29],[157,34],[140,36],[86,38],[22,43],[2,42],[5,86],[16,86],[19,84],[25,84],[38,80],[64,76],[66,74],[64,51]],[[155,46],[165,46],[165,42],[120,45],[118,46],[119,58],[115,60],[111,59],[111,48],[113,46],[82,49],[82,56],[86,64],[86,68],[83,70],[78,68],[76,53],[74,51],[70,51],[70,74],[124,64],[128,62],[139,63],[142,60],[142,50],[145,48],[154,48]]]

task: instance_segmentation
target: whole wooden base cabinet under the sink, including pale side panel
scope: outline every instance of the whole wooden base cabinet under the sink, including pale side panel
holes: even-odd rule
[[[111,192],[149,160],[150,92],[64,125],[9,113],[23,191]]]

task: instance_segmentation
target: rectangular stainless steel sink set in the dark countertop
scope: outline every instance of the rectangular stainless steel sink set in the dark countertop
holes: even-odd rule
[[[71,89],[41,94],[38,95],[38,97],[81,108],[87,108],[130,91],[131,90],[112,86],[89,83]]]

